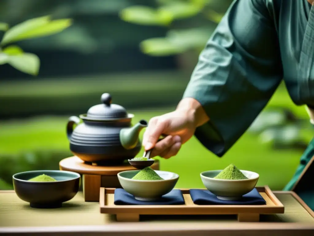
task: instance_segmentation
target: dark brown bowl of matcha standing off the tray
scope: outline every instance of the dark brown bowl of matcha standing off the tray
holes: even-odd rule
[[[48,175],[57,181],[34,182],[29,179]],[[58,208],[78,192],[80,174],[71,171],[26,171],[13,175],[13,185],[18,197],[34,208]]]

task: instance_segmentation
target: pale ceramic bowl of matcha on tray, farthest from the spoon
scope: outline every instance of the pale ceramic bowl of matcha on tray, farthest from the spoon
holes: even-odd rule
[[[259,175],[252,171],[240,170],[248,179],[225,180],[214,179],[222,170],[204,171],[201,179],[205,187],[215,194],[218,199],[237,200],[251,192],[258,181]]]

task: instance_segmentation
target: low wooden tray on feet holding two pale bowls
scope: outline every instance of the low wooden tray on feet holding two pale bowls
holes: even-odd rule
[[[100,213],[117,221],[139,221],[140,215],[237,215],[239,222],[258,222],[260,214],[284,213],[284,205],[268,186],[257,187],[266,205],[195,205],[189,189],[181,189],[185,205],[115,205],[115,188],[100,188]]]

